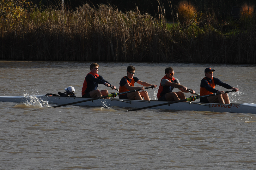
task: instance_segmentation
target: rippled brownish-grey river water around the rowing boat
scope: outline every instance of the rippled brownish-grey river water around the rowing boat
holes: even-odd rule
[[[81,96],[91,62],[0,61],[1,96],[64,92]],[[256,65],[99,63],[119,87],[128,65],[157,84],[172,66],[180,84],[200,93],[204,69],[240,89],[232,103],[256,103]],[[106,89],[99,85],[98,89]],[[225,90],[220,86],[216,89]],[[117,92],[108,88],[109,92]],[[156,99],[156,89],[147,89]],[[177,91],[177,90],[176,90]],[[186,93],[189,97],[190,93]],[[0,102],[0,169],[255,169],[256,115]]]

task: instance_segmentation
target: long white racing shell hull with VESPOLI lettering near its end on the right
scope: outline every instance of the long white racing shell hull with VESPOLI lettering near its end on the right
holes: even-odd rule
[[[45,95],[33,95],[33,96],[0,96],[0,101],[2,102],[18,102],[18,103],[35,103],[40,102],[46,106],[49,104],[64,105],[74,102],[79,102],[86,100],[88,98],[82,97],[60,97],[60,96],[45,96]],[[89,100],[89,99],[88,99]],[[76,103],[73,105],[77,106],[103,106],[103,107],[113,107],[118,106],[122,108],[143,108],[159,104],[164,104],[168,102],[157,101],[157,100],[125,100],[125,99],[96,99],[82,103]],[[152,109],[167,109],[167,110],[194,110],[194,111],[212,111],[212,112],[231,112],[231,113],[256,113],[256,104],[253,103],[243,103],[243,104],[216,104],[216,103],[200,103],[200,102],[179,102],[174,104],[167,104],[157,107],[152,107]]]

